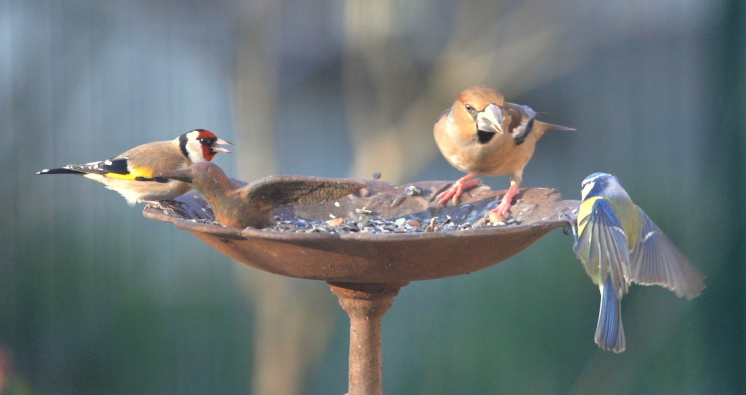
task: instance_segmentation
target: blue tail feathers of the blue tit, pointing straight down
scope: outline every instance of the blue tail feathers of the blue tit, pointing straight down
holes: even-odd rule
[[[601,290],[601,309],[596,325],[596,344],[614,353],[624,351],[624,328],[621,326],[621,295],[614,291],[611,276],[606,277]]]

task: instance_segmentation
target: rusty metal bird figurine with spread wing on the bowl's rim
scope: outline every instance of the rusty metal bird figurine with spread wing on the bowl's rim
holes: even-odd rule
[[[336,200],[366,186],[360,180],[299,176],[270,176],[247,184],[228,178],[210,162],[163,171],[161,177],[192,184],[219,224],[257,229],[274,224],[270,212],[275,207]]]

